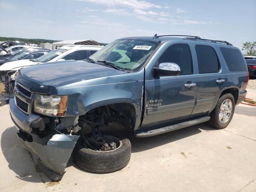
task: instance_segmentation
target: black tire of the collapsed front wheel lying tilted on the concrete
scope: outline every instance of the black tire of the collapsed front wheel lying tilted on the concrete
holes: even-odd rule
[[[118,139],[114,136],[108,137]],[[115,150],[105,152],[85,148],[83,141],[81,141],[78,142],[78,145],[74,150],[74,162],[79,168],[88,172],[115,172],[124,168],[129,163],[131,149],[131,143],[128,139],[121,140],[120,146]]]

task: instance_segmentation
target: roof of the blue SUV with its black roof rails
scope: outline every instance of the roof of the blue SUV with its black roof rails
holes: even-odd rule
[[[182,37],[178,37],[178,36],[182,36]],[[186,35],[165,35],[165,36],[157,36],[157,34],[155,34],[155,36],[142,36],[142,37],[125,37],[125,38],[120,38],[120,39],[137,39],[137,40],[148,40],[148,41],[155,41],[155,42],[168,42],[170,40],[184,40],[184,41],[200,41],[200,42],[205,42],[208,44],[218,44],[218,45],[223,45],[223,46],[232,46],[232,44],[230,44],[227,41],[223,41],[223,40],[210,40],[210,39],[203,39],[200,38],[198,36],[186,36]]]

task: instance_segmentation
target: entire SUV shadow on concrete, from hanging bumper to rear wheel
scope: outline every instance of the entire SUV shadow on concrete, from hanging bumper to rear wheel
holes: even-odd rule
[[[152,148],[162,146],[164,144],[174,142],[182,138],[199,134],[202,132],[200,129],[209,131],[215,130],[211,128],[208,124],[202,123],[152,137],[135,138],[129,136],[129,139],[132,144],[132,153],[150,150]],[[28,182],[50,182],[50,180],[45,180],[45,177],[43,180],[43,174],[37,172],[38,170],[37,168],[35,168],[35,164],[32,161],[32,158],[30,157],[28,151],[20,143],[20,140],[16,136],[16,132],[17,129],[14,126],[7,128],[2,133],[1,138],[2,152],[9,164],[9,168],[13,170],[17,174],[16,177],[21,180]],[[67,164],[67,167],[70,166],[74,166],[74,168],[81,170],[73,163],[73,156],[70,157],[70,160]]]

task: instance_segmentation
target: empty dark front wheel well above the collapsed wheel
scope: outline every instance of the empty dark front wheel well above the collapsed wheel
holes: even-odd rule
[[[106,132],[134,130],[135,108],[130,103],[115,103],[93,108],[79,117],[78,124],[85,132],[97,126]]]

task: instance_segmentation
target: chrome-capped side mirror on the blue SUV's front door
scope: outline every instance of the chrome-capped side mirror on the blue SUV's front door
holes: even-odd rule
[[[160,76],[177,76],[180,74],[180,66],[176,63],[160,63],[158,67],[153,67],[155,78]]]

